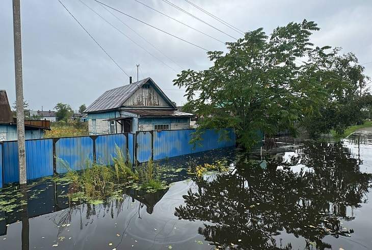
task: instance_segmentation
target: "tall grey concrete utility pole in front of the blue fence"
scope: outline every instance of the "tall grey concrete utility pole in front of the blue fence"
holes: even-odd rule
[[[19,184],[26,184],[27,180],[26,180],[26,152],[24,147],[21,11],[19,0],[13,0],[13,34],[14,34],[15,96],[17,105]]]

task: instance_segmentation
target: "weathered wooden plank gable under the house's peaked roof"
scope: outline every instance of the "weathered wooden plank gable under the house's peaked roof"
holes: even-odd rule
[[[138,89],[123,106],[163,106],[170,107],[166,100],[150,85],[149,89]]]

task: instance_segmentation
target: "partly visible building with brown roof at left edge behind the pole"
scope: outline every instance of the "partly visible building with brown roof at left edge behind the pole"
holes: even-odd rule
[[[26,139],[42,138],[45,129],[50,130],[49,121],[24,121]],[[17,140],[17,120],[13,118],[7,92],[0,90],[0,142],[15,140]]]

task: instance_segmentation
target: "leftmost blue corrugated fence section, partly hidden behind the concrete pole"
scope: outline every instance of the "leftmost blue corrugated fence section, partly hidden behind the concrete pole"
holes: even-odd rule
[[[18,182],[18,143],[3,143],[4,184]],[[53,174],[53,141],[26,140],[26,178],[33,180]]]

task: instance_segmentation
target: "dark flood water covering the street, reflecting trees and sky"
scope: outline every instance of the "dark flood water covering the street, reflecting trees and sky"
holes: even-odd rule
[[[229,171],[187,174],[217,160]],[[372,249],[372,130],[160,163],[174,170],[168,189],[99,205],[71,204],[54,180],[25,196],[1,190],[0,206],[9,197],[21,205],[0,211],[0,249]]]

